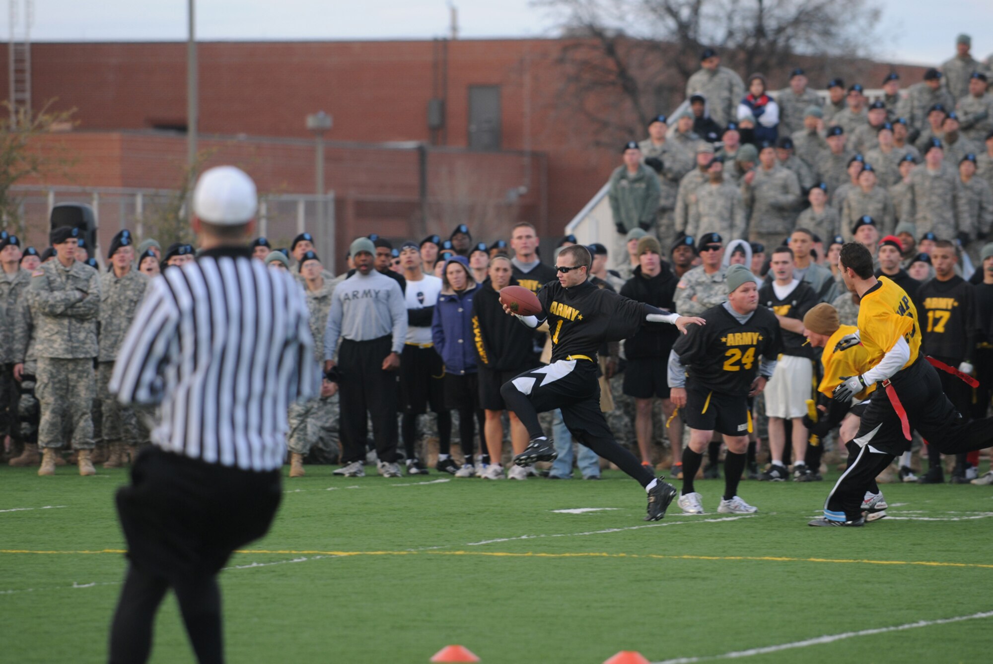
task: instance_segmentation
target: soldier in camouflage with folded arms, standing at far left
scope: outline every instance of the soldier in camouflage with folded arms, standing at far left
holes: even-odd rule
[[[56,454],[64,444],[63,422],[71,422],[72,448],[79,474],[96,470],[90,461],[96,396],[93,358],[97,354],[96,321],[100,308],[100,277],[75,260],[78,228],[54,229],[49,239],[56,259],[31,275],[28,298],[36,326],[38,386],[42,409],[38,444],[45,450],[38,474],[55,473]]]

